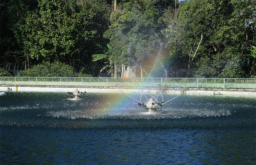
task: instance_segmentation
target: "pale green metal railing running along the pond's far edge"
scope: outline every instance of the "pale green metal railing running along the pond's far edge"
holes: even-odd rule
[[[0,85],[76,87],[190,87],[256,89],[252,78],[56,78],[0,77]]]

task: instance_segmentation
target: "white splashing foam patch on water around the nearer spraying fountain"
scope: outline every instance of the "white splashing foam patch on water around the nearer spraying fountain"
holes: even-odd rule
[[[162,109],[162,111],[147,112],[140,109],[128,109],[125,113],[113,113],[102,111],[95,112],[87,110],[64,110],[49,111],[43,117],[65,118],[65,119],[181,119],[181,118],[204,118],[221,117],[231,115],[228,109]]]

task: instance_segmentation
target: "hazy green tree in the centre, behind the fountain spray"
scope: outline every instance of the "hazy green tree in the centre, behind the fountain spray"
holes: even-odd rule
[[[104,33],[110,40],[111,57],[118,68],[122,64],[136,64],[142,70],[148,66],[147,58],[156,60],[152,54],[160,48],[162,37],[162,22],[159,21],[162,13],[156,5],[156,1],[140,0],[118,4],[112,14],[113,23]]]

